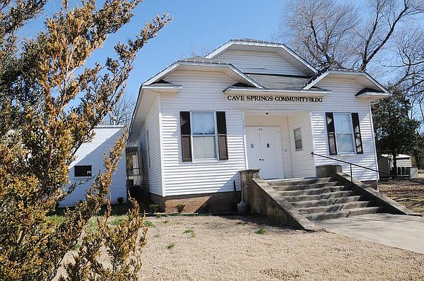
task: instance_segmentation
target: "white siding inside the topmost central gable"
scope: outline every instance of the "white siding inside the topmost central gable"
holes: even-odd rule
[[[274,52],[242,51],[229,49],[216,56],[214,61],[227,62],[245,73],[272,73],[304,76],[298,68]]]

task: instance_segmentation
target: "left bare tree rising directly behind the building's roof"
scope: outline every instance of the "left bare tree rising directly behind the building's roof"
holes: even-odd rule
[[[346,64],[355,56],[351,38],[358,18],[358,8],[351,4],[291,1],[283,12],[280,34],[315,66]]]

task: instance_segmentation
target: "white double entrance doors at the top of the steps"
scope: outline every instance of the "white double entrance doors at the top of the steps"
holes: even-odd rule
[[[283,177],[279,161],[281,142],[278,131],[249,128],[246,133],[249,169],[260,169],[262,179]]]

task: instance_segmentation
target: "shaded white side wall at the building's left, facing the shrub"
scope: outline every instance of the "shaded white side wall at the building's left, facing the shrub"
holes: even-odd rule
[[[141,151],[141,167],[145,172],[148,191],[158,195],[163,194],[162,164],[160,157],[160,121],[159,97],[155,99],[146,121],[141,128],[139,151]]]

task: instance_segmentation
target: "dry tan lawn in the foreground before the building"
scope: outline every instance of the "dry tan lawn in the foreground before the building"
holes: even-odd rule
[[[148,217],[141,280],[423,280],[424,255],[257,216]],[[265,229],[265,234],[257,234]],[[172,245],[172,246],[170,246]]]

